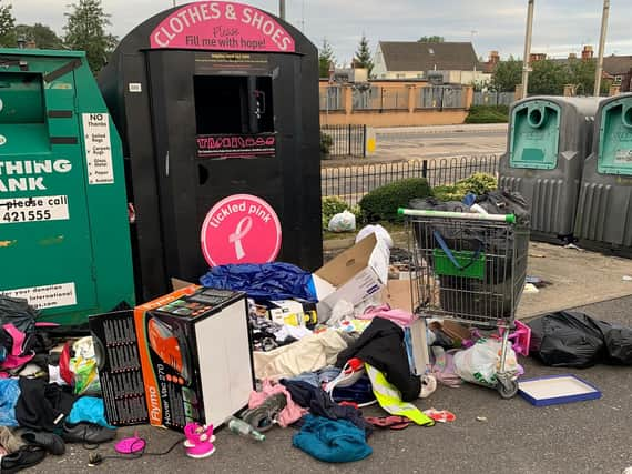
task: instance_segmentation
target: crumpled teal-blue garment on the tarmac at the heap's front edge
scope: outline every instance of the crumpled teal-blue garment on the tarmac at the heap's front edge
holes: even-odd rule
[[[319,461],[348,463],[364,460],[373,453],[365,441],[365,433],[346,420],[327,420],[305,415],[300,432],[292,444]]]

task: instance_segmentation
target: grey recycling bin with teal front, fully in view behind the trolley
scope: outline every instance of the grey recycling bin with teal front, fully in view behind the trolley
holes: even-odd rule
[[[532,97],[510,110],[499,186],[531,208],[534,239],[570,239],[585,157],[600,99]]]

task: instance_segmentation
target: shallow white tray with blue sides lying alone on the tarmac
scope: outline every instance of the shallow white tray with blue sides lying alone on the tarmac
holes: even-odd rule
[[[536,406],[601,399],[599,389],[571,374],[521,380],[518,393]]]

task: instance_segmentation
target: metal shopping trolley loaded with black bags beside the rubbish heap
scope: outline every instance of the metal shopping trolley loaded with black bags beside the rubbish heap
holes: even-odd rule
[[[407,222],[415,313],[498,329],[502,345],[492,387],[512,397],[518,374],[506,370],[506,359],[527,276],[528,223],[513,214],[412,209],[399,214]]]

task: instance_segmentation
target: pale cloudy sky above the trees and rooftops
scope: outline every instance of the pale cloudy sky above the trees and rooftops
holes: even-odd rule
[[[19,23],[41,22],[62,33],[67,4],[73,0],[0,0],[13,4]],[[186,3],[176,0],[177,4]],[[242,0],[272,13],[277,0]],[[317,46],[326,38],[338,63],[348,63],[363,33],[371,51],[378,41],[415,41],[442,36],[446,41],[472,41],[487,59],[522,57],[527,0],[286,0],[287,20]],[[173,6],[173,0],[102,0],[111,32],[124,37],[143,20]],[[532,52],[564,58],[582,44],[598,50],[601,0],[536,0]],[[606,54],[632,54],[630,0],[611,0]]]

